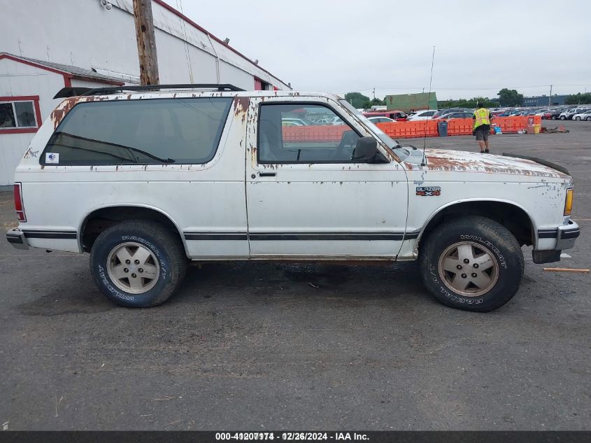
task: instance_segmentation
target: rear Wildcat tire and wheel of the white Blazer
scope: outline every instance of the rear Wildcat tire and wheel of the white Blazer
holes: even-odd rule
[[[90,272],[111,302],[152,307],[179,288],[187,272],[187,256],[180,239],[163,225],[126,220],[104,230],[94,241]]]

